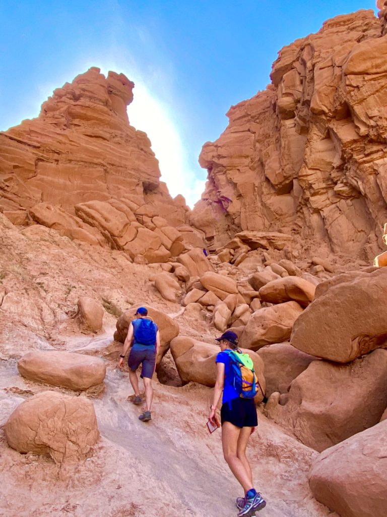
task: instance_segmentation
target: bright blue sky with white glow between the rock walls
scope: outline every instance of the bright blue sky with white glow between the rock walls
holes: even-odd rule
[[[200,199],[198,156],[232,104],[269,83],[277,52],[375,0],[0,0],[0,130],[38,115],[90,66],[135,82],[131,124],[146,131],[172,196]]]

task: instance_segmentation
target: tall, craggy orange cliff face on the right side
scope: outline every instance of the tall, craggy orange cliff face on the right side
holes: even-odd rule
[[[379,16],[385,31],[385,7]],[[238,231],[270,227],[316,255],[380,252],[387,215],[380,34],[372,10],[328,20],[279,52],[266,90],[229,110],[228,128],[203,146],[208,181],[190,215],[214,248]]]

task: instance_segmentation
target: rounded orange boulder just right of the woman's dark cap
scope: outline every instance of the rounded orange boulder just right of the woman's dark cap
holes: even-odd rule
[[[271,343],[287,341],[302,311],[297,302],[287,301],[253,312],[240,339],[240,346],[257,350]]]

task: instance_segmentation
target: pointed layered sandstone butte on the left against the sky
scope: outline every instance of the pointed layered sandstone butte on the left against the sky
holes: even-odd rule
[[[189,209],[171,199],[147,135],[129,124],[133,87],[123,74],[105,78],[90,68],[57,88],[38,118],[0,133],[0,211],[15,224],[43,224],[132,260],[182,253],[176,227],[187,230]],[[188,230],[188,242],[203,246],[201,233]]]

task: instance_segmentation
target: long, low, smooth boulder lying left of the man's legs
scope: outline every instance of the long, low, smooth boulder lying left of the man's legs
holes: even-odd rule
[[[70,352],[29,352],[18,361],[19,373],[31,381],[75,391],[103,383],[105,362],[98,357]]]

